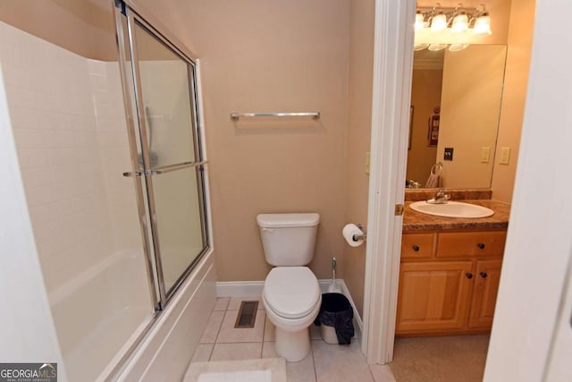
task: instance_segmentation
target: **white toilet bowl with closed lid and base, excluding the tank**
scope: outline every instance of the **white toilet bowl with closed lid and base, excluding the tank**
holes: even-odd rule
[[[266,317],[275,327],[275,351],[286,361],[305,359],[310,352],[308,327],[320,311],[322,293],[307,267],[274,267],[262,293]]]

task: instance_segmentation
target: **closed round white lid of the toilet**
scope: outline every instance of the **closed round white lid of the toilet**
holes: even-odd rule
[[[264,297],[283,318],[307,316],[320,299],[320,285],[308,267],[274,267],[265,280]]]

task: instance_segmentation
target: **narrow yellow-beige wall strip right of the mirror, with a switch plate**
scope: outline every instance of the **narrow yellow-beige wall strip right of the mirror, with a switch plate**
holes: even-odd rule
[[[518,146],[525,112],[526,86],[533,40],[534,0],[521,0],[510,9],[509,50],[501,105],[497,154],[492,172],[492,199],[510,202],[517,170]],[[509,165],[500,165],[500,150],[510,148]]]

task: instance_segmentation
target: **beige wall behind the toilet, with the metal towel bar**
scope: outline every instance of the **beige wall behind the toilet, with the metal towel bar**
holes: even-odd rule
[[[310,267],[330,277],[344,245],[349,2],[140,3],[201,59],[218,280],[264,280],[256,216],[297,211],[320,213]],[[310,110],[320,120],[229,117]]]

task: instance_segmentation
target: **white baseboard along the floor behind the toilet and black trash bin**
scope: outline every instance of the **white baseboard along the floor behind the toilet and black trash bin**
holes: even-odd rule
[[[332,284],[332,279],[318,280],[322,293],[328,293],[328,288]],[[245,296],[259,296],[262,294],[262,289],[265,286],[264,281],[217,281],[216,282],[216,296],[217,297],[245,297]],[[356,329],[357,338],[361,338],[363,333],[363,321],[356,310],[356,304],[351,299],[348,287],[342,279],[336,280],[336,287],[339,292],[346,296],[354,310],[354,328]]]

